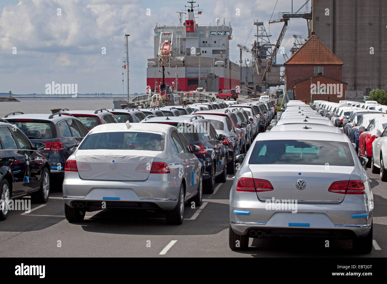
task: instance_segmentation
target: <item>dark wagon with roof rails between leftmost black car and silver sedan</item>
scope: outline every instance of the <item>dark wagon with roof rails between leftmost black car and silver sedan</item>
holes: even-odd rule
[[[12,112],[5,116],[31,139],[32,143],[45,143],[41,150],[50,164],[51,176],[63,177],[67,158],[87,134],[87,129],[77,117],[66,112],[56,114],[23,114]]]

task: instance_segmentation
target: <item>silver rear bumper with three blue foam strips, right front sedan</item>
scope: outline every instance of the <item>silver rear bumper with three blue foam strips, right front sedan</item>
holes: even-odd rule
[[[233,231],[238,235],[264,237],[274,235],[363,237],[371,229],[373,210],[346,196],[341,203],[298,203],[296,210],[272,210],[257,199],[255,192],[230,198],[229,217]],[[254,201],[257,200],[257,201]],[[262,235],[250,234],[261,231]]]

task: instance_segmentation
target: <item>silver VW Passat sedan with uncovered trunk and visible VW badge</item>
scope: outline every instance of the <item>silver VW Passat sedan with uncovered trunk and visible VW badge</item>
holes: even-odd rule
[[[352,239],[354,249],[370,252],[365,162],[341,133],[260,133],[231,187],[230,248],[247,248],[249,237],[324,236]]]

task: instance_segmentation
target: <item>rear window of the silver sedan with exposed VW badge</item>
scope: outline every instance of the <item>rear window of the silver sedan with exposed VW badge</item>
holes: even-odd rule
[[[354,166],[348,143],[315,140],[257,141],[249,163]]]

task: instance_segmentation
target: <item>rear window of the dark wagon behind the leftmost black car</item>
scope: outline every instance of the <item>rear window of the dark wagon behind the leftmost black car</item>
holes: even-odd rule
[[[10,123],[16,125],[29,139],[56,138],[52,122],[10,121]]]

